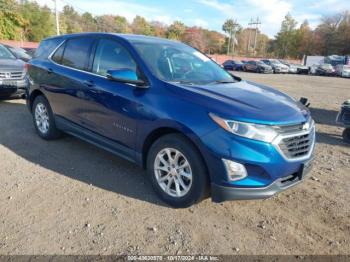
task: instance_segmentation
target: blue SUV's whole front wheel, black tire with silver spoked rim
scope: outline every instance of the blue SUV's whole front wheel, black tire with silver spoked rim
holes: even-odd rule
[[[157,195],[172,207],[189,207],[207,194],[209,179],[201,155],[180,134],[165,135],[151,146],[147,170]]]

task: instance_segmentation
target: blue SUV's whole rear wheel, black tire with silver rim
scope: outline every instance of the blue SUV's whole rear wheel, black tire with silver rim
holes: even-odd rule
[[[49,101],[44,96],[35,98],[32,108],[33,123],[37,134],[45,140],[59,138],[62,133],[57,129]]]

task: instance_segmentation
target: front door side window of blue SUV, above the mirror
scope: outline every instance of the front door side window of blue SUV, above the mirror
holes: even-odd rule
[[[136,72],[136,63],[129,52],[119,43],[109,39],[99,41],[93,69],[96,74],[106,76],[107,70],[132,69]]]

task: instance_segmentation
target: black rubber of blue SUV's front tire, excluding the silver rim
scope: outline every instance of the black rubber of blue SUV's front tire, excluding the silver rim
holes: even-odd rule
[[[192,185],[189,191],[182,197],[173,197],[169,195],[157,182],[154,165],[158,153],[165,148],[172,148],[180,151],[189,162],[192,170]],[[147,172],[157,195],[172,207],[186,208],[198,203],[208,195],[209,179],[205,163],[197,148],[181,134],[165,135],[154,142],[147,155]]]

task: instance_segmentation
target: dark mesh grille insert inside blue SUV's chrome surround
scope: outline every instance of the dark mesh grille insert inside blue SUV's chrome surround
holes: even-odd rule
[[[283,138],[278,146],[286,158],[296,159],[309,155],[314,141],[315,133],[312,128],[309,133]]]

